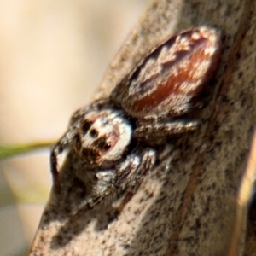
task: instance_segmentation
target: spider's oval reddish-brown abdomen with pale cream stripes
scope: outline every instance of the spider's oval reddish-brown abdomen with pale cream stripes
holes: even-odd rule
[[[219,33],[207,27],[181,32],[157,46],[112,99],[137,119],[177,116],[201,93],[219,58]]]

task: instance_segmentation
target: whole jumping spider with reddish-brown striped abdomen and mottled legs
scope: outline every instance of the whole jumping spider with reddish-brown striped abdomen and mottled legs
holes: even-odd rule
[[[108,98],[74,113],[51,152],[55,186],[61,185],[57,156],[74,148],[83,165],[74,175],[90,188],[82,210],[119,192],[128,201],[154,166],[154,145],[199,125],[183,114],[193,108],[217,67],[219,44],[219,33],[203,26],[168,38]]]

